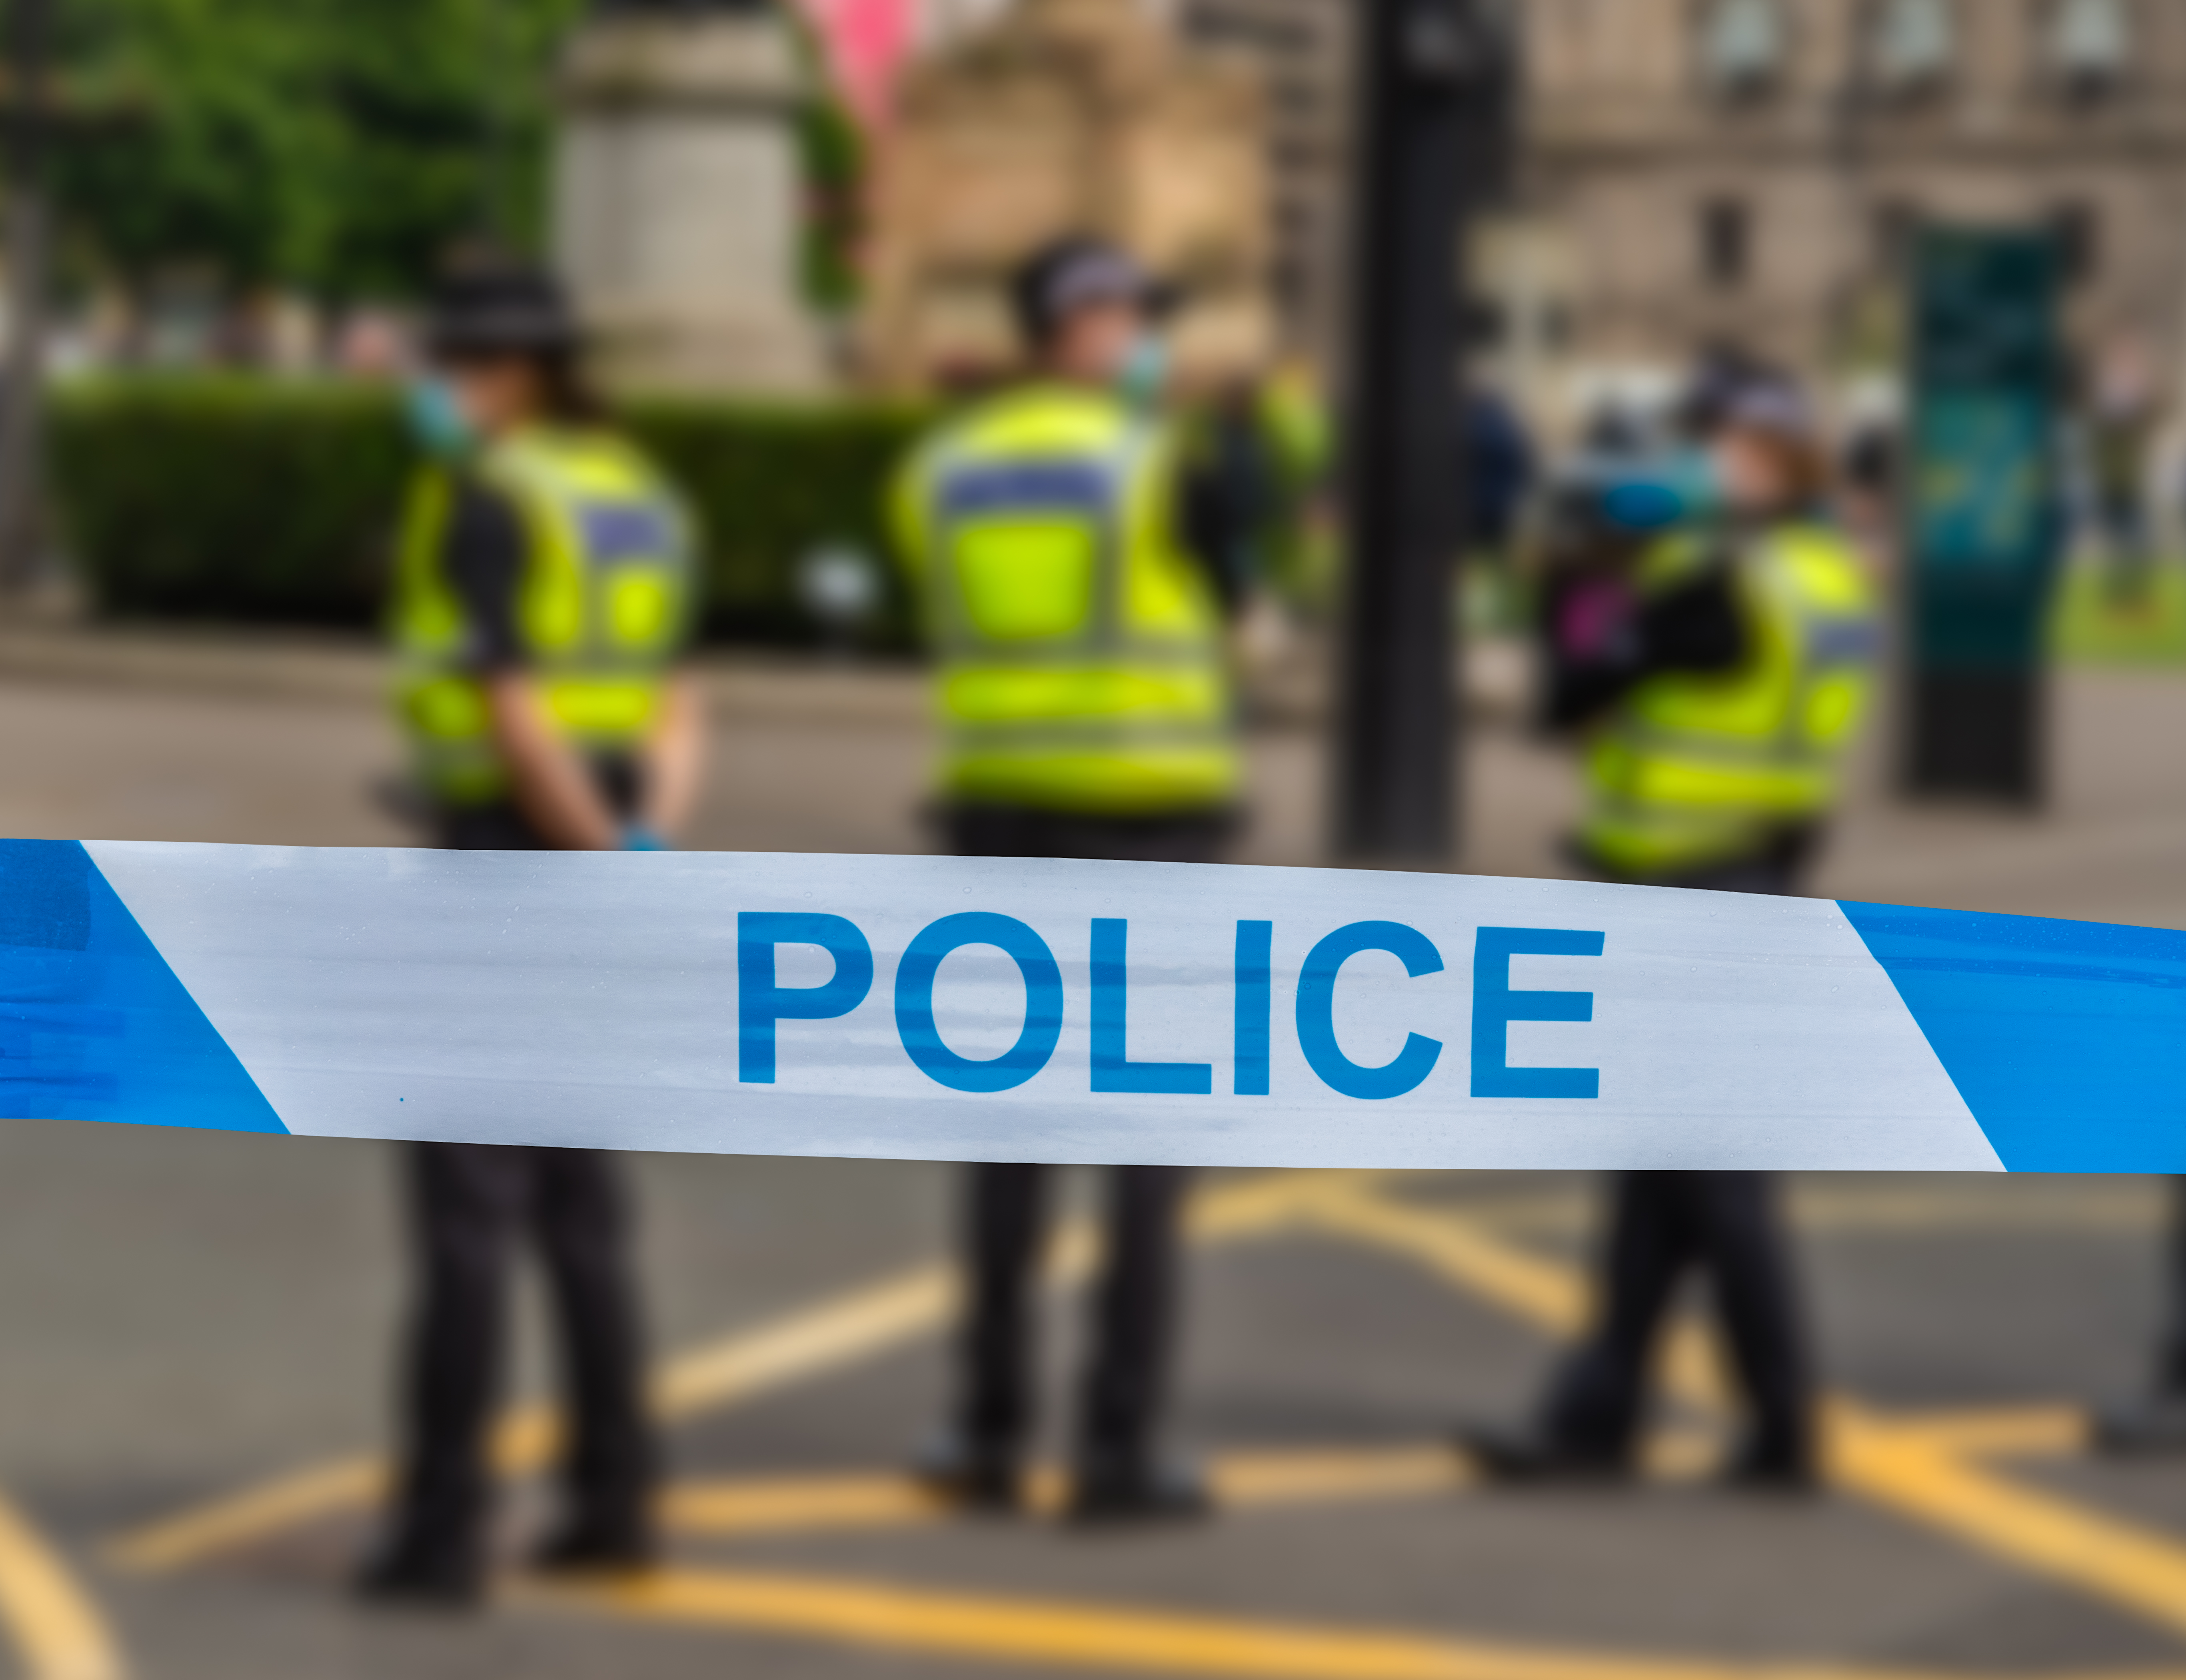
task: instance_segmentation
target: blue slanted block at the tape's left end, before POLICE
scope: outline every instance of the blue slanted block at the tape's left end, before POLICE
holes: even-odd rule
[[[77,841],[0,841],[0,1114],[289,1129]]]

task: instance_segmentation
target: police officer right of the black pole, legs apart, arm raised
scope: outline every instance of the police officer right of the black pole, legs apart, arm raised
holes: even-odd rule
[[[1578,850],[1600,874],[1795,894],[1867,706],[1873,605],[1821,513],[1823,452],[1797,393],[1755,380],[1720,398],[1718,422],[1707,461],[1723,518],[1642,546],[1622,625],[1605,634],[1596,599],[1574,614],[1583,647],[1552,627],[1554,721],[1591,712]],[[1653,1346],[1688,1271],[1709,1282],[1751,1413],[1729,1479],[1810,1486],[1812,1379],[1766,1173],[1618,1178],[1596,1324],[1532,1427],[1460,1431],[1480,1468],[1513,1481],[1626,1472]]]

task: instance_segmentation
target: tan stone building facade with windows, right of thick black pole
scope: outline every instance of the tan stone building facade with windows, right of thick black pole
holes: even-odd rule
[[[2175,358],[2177,0],[1526,0],[1530,306],[1565,367],[1709,339],[1812,374],[1895,358],[1926,218],[2048,223],[2090,345]]]

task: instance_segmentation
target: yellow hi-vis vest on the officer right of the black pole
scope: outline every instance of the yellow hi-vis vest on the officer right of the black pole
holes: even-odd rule
[[[1642,588],[1690,579],[1709,540],[1666,540]],[[1736,588],[1751,647],[1736,671],[1648,677],[1587,743],[1583,850],[1626,880],[1764,852],[1836,802],[1867,710],[1876,607],[1852,546],[1821,524],[1749,537]]]

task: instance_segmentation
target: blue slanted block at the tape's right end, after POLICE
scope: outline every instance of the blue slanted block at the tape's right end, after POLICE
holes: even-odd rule
[[[2186,933],[1841,909],[2005,1167],[2186,1171]]]

